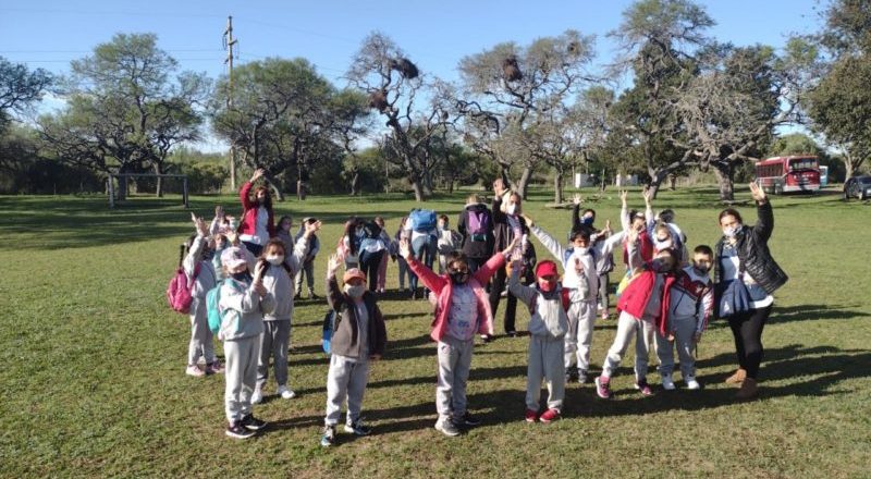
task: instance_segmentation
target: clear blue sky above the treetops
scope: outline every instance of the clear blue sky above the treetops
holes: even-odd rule
[[[711,36],[736,45],[782,47],[790,33],[819,27],[817,0],[699,1],[717,25]],[[305,57],[339,86],[360,40],[378,29],[427,72],[456,78],[466,54],[498,42],[526,44],[574,28],[597,36],[599,62],[615,54],[606,34],[631,4],[615,1],[61,1],[0,0],[0,56],[64,73],[119,32],[155,33],[182,69],[225,72],[222,33],[233,15],[238,62]]]

